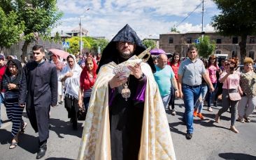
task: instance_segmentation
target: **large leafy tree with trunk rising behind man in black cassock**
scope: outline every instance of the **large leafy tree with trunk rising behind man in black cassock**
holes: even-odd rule
[[[19,22],[25,24],[23,58],[27,56],[27,47],[30,42],[37,40],[38,35],[49,37],[50,31],[57,26],[62,13],[57,9],[56,3],[56,0],[5,0],[1,2],[5,13],[15,11]]]

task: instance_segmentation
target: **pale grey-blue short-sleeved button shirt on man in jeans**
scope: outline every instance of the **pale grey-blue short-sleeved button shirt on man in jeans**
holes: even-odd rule
[[[201,85],[202,75],[206,74],[206,67],[200,59],[197,58],[193,62],[188,58],[180,63],[178,74],[183,76],[182,83],[188,86],[198,86]]]

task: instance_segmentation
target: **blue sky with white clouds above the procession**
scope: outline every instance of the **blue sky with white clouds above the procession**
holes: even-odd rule
[[[57,0],[57,7],[64,15],[53,32],[71,31],[79,26],[80,19],[88,35],[108,40],[125,24],[141,40],[159,38],[159,34],[169,33],[173,26],[180,33],[201,32],[201,3],[201,0]],[[218,13],[220,10],[213,1],[204,0],[204,31],[214,31],[211,19]]]

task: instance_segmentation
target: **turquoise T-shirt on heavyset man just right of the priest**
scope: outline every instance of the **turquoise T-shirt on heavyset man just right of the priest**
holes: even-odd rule
[[[160,91],[161,96],[171,93],[171,79],[174,78],[174,72],[170,65],[166,65],[163,69],[155,65],[156,72],[154,73],[155,81]]]

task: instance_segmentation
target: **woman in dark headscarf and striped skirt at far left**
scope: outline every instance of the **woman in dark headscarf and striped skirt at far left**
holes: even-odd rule
[[[6,113],[8,119],[13,122],[12,136],[13,140],[10,143],[10,149],[17,146],[19,134],[24,133],[27,122],[22,120],[24,107],[18,104],[19,86],[22,79],[22,65],[17,59],[10,59],[7,63],[6,72],[3,76],[3,92],[6,101]]]

